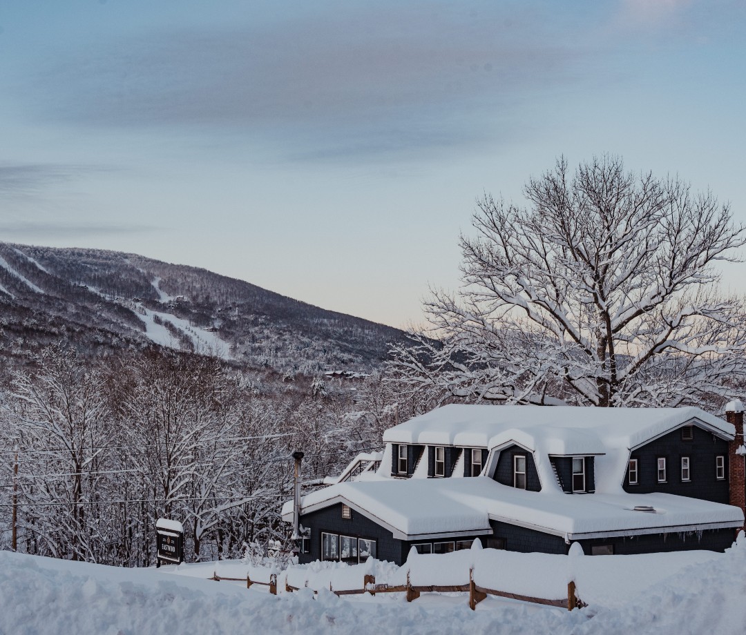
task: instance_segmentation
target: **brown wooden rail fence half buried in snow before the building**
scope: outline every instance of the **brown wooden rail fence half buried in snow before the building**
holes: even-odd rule
[[[213,575],[210,580],[215,581],[234,581],[234,582],[242,582],[243,578],[221,578],[217,572]],[[262,584],[263,586],[269,587],[269,593],[272,593],[272,595],[277,595],[278,593],[278,575],[276,573],[272,573],[269,576],[269,582],[258,582],[251,580],[248,575],[246,575],[246,588],[250,589],[252,584]],[[299,587],[292,587],[287,583],[287,580],[285,581],[285,591],[286,593],[292,593],[293,591],[300,590]],[[374,575],[365,575],[363,578],[363,587],[359,589],[344,589],[344,590],[335,590],[332,588],[331,583],[329,583],[329,590],[331,593],[334,593],[335,595],[358,595],[362,593],[370,593],[371,595],[376,595],[376,593],[406,593],[407,594],[407,601],[411,602],[413,600],[416,600],[419,598],[420,593],[457,593],[457,592],[463,592],[468,593],[468,605],[471,608],[471,610],[475,610],[477,608],[477,604],[480,603],[483,599],[487,597],[487,595],[497,595],[501,598],[510,598],[513,600],[520,600],[524,602],[533,602],[533,604],[545,604],[546,606],[551,607],[566,607],[567,610],[573,610],[574,608],[580,608],[587,606],[583,601],[580,600],[580,598],[577,597],[577,594],[575,593],[575,583],[574,581],[571,581],[567,585],[567,597],[566,598],[557,598],[557,599],[546,599],[546,598],[534,598],[530,595],[519,595],[518,593],[508,593],[507,591],[498,591],[495,589],[488,589],[486,587],[480,587],[478,584],[474,583],[474,569],[469,569],[469,583],[468,584],[452,584],[452,585],[443,585],[443,584],[432,584],[432,585],[418,585],[415,586],[413,584],[410,584],[410,574],[407,572],[407,584],[400,584],[400,585],[389,585],[389,584],[377,584],[375,581]],[[318,591],[314,591],[313,593],[319,593]]]

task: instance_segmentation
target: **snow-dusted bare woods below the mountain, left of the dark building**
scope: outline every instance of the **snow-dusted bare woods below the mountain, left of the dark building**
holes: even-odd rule
[[[154,562],[154,525],[184,523],[188,560],[282,540],[293,451],[306,488],[380,449],[396,406],[379,376],[248,374],[147,350],[47,347],[8,378],[0,417],[0,549],[120,566]],[[15,503],[15,505],[14,505]]]

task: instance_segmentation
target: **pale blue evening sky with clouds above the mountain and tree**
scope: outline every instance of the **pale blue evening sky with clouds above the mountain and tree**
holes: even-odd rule
[[[2,0],[0,240],[417,325],[475,200],[562,155],[746,223],[745,30],[742,0]]]

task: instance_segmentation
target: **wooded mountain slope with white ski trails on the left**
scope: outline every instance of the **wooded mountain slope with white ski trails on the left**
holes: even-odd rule
[[[157,344],[283,373],[378,367],[399,329],[137,253],[0,242],[0,344]],[[214,347],[210,350],[210,347]]]

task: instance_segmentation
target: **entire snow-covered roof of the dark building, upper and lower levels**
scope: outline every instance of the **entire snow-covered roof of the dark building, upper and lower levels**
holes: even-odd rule
[[[566,540],[741,526],[742,511],[731,505],[624,491],[630,452],[683,426],[698,426],[726,440],[736,432],[700,408],[446,405],[387,430],[376,474],[303,496],[301,514],[342,502],[402,540],[489,534],[491,520]],[[483,448],[489,450],[488,464],[475,478],[427,478],[425,470],[393,478],[392,445],[397,443]],[[512,445],[532,452],[540,492],[486,476],[501,450]],[[557,483],[550,457],[573,455],[595,457],[595,493],[568,496]],[[655,511],[635,511],[639,506]],[[288,502],[283,518],[291,517]]]

